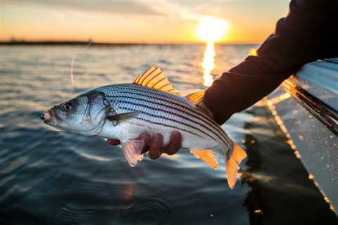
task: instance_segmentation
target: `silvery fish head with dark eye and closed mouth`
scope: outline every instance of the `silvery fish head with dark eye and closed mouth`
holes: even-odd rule
[[[88,91],[46,110],[41,119],[57,129],[96,135],[111,113],[111,105],[101,91]]]

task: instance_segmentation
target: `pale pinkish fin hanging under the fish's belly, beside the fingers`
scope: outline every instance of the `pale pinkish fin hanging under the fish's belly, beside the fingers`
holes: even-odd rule
[[[121,143],[125,159],[129,163],[130,167],[135,167],[137,161],[143,160],[142,149],[144,147],[144,141],[139,139],[130,139],[124,143]]]

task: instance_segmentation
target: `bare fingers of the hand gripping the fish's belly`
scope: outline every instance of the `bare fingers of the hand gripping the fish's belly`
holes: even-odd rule
[[[145,148],[142,150],[142,154],[149,151],[148,156],[152,160],[157,159],[162,155],[162,153],[167,153],[168,155],[174,155],[182,147],[182,135],[179,131],[173,131],[170,136],[170,143],[168,146],[162,147],[163,136],[162,134],[150,134],[144,133],[139,135],[138,139],[141,139],[145,143]],[[118,146],[120,144],[119,140],[116,139],[107,139],[107,143]]]

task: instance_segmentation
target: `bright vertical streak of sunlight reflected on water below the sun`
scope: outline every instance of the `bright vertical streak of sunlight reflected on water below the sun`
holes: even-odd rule
[[[202,68],[204,70],[204,86],[211,86],[213,84],[213,75],[211,71],[215,68],[215,44],[213,41],[208,41],[206,44],[206,51],[204,51],[204,58],[202,61]]]

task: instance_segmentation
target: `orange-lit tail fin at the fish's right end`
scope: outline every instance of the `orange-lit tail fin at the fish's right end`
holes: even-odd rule
[[[230,189],[234,188],[237,181],[237,167],[239,163],[246,158],[243,148],[234,143],[232,154],[229,158],[225,158],[225,167],[227,169],[227,184]]]

